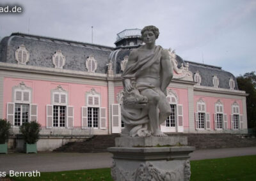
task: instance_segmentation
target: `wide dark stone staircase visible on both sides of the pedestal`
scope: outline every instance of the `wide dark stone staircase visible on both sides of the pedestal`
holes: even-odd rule
[[[88,140],[69,142],[53,152],[108,152],[108,147],[115,147],[115,138],[120,134],[96,135]],[[256,147],[255,136],[248,134],[182,134],[168,136],[188,136],[188,145],[196,149]]]

